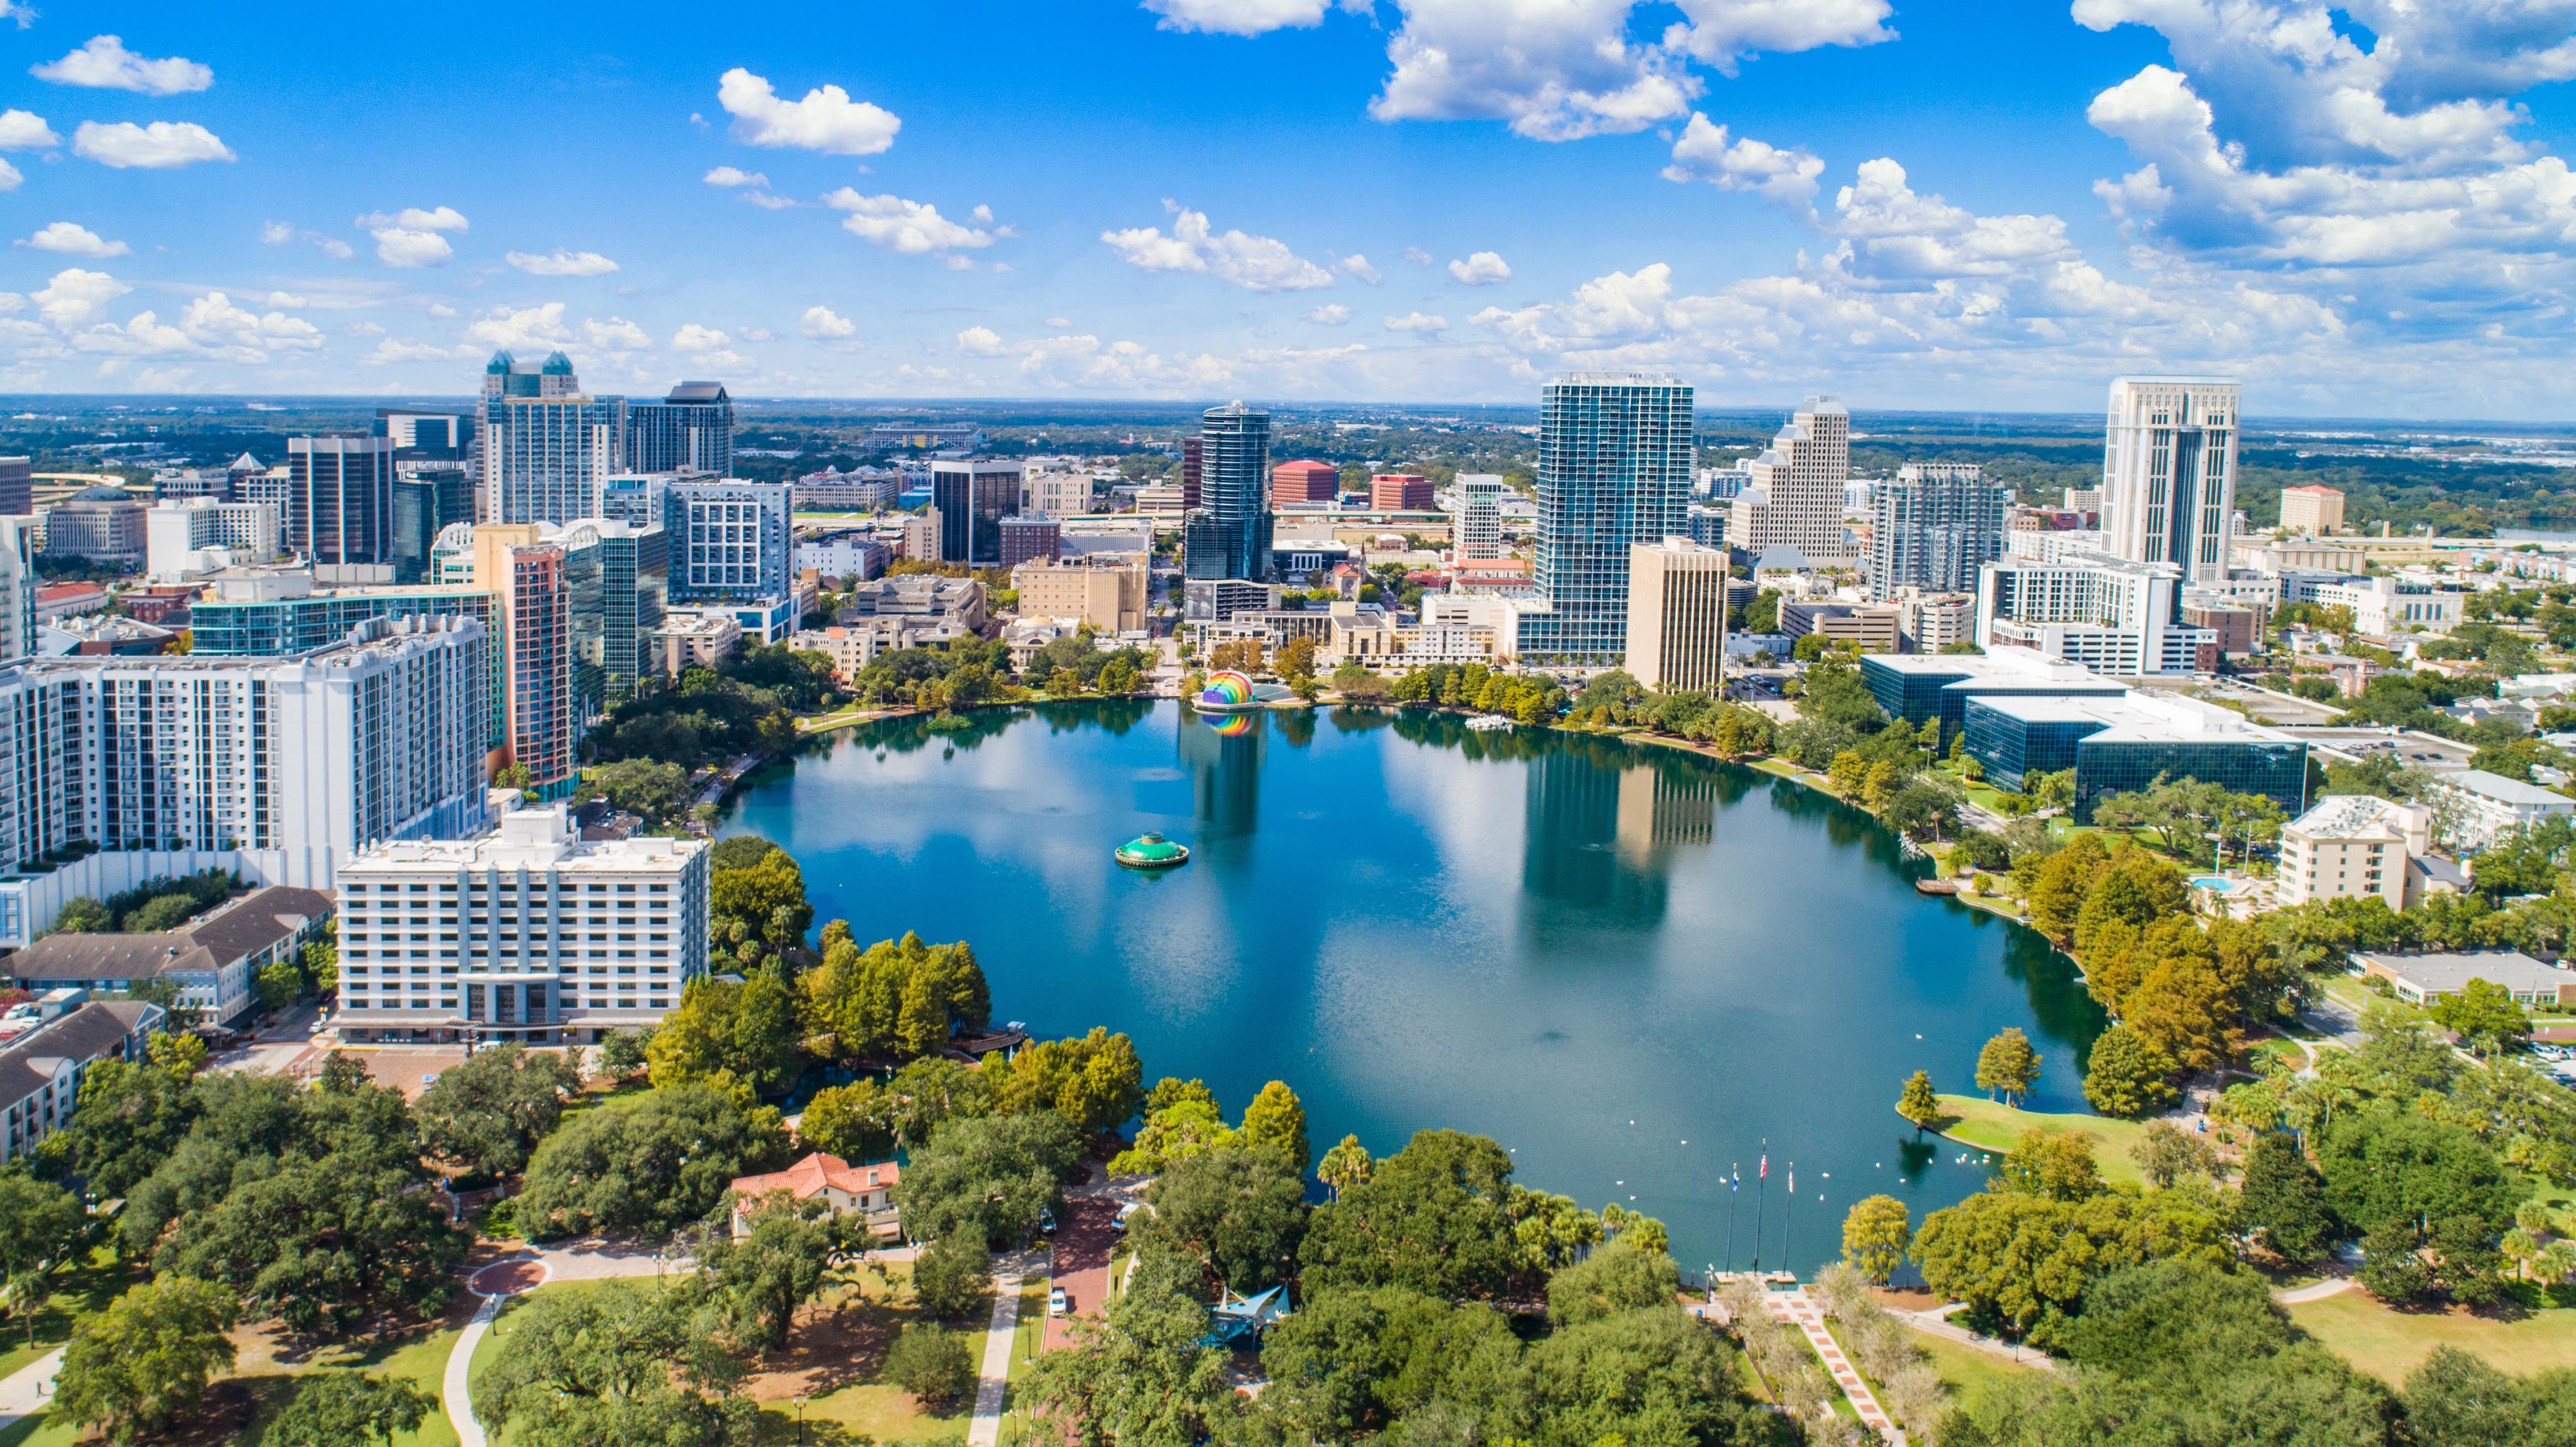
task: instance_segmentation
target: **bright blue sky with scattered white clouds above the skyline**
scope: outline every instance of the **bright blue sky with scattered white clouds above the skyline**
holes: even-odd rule
[[[2576,0],[0,13],[5,391],[2576,397]]]

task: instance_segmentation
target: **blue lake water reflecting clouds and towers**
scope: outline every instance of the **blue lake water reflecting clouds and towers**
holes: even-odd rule
[[[1229,1115],[1283,1079],[1319,1156],[1492,1135],[1530,1187],[1669,1223],[1685,1269],[1728,1238],[1749,1264],[1757,1210],[1762,1264],[1806,1272],[1862,1195],[1917,1220],[1955,1202],[1986,1172],[1914,1143],[1906,1074],[1965,1092],[2020,1025],[2045,1056],[2032,1105],[2084,1110],[2105,1025],[2038,935],[1914,893],[1922,865],[1870,816],[1654,744],[1394,711],[989,711],[819,742],[750,783],[742,829],[796,855],[817,924],[971,940],[997,1020],[1126,1030],[1146,1081],[1200,1076]],[[1110,860],[1149,829],[1190,863]]]

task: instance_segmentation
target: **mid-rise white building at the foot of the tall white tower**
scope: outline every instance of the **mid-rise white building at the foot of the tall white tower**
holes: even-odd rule
[[[2218,649],[2210,628],[2177,623],[2182,569],[2102,554],[2007,556],[1978,572],[1978,646],[2022,646],[2102,675],[2195,672]]]

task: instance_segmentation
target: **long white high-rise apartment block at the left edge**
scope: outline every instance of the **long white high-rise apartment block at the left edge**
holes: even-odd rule
[[[21,659],[0,669],[0,847],[245,850],[270,883],[330,886],[374,839],[482,826],[482,680],[471,618],[289,659]]]

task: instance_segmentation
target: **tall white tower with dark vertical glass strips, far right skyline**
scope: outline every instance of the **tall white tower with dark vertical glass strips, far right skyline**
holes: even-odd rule
[[[2236,381],[2120,376],[2102,443],[2102,551],[2226,582],[2236,518]]]

